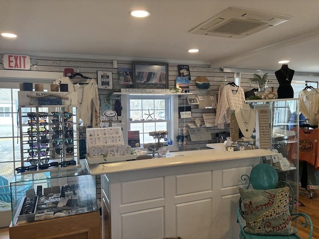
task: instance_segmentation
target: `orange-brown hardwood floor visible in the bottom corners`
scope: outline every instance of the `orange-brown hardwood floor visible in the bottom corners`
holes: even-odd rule
[[[319,190],[313,190],[313,198],[308,197],[308,192],[304,188],[300,189],[299,201],[305,205],[305,207],[299,207],[299,212],[307,213],[314,225],[314,234],[313,239],[319,239]],[[299,236],[302,239],[308,239],[309,230],[298,226]],[[0,239],[9,239],[9,230],[8,228],[0,229]]]

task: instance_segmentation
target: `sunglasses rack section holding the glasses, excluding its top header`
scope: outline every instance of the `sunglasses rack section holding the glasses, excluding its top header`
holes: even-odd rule
[[[76,106],[19,106],[21,166],[17,173],[78,167]]]

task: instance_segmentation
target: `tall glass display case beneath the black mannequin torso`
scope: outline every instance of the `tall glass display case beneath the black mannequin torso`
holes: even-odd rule
[[[264,163],[270,163],[299,194],[299,100],[275,99],[247,101],[256,111],[255,140],[257,148],[277,152]]]

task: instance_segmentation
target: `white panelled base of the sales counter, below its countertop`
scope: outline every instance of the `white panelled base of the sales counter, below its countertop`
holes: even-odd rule
[[[238,238],[238,182],[259,162],[242,157],[103,174],[103,238]]]

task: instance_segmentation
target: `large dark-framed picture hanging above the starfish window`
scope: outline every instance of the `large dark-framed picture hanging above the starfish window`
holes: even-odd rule
[[[133,87],[168,89],[168,63],[133,62]]]

